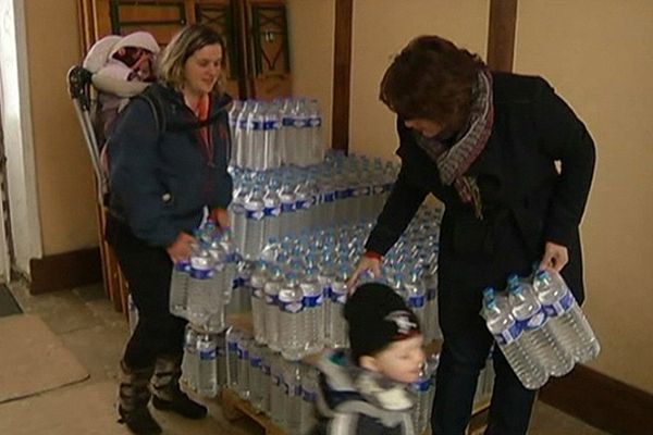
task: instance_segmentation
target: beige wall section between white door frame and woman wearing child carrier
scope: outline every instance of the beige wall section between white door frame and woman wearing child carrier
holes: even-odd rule
[[[67,70],[79,59],[76,3],[25,2],[38,212],[46,256],[98,244],[90,161],[65,83]]]

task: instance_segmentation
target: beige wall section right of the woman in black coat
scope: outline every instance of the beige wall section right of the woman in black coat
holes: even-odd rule
[[[597,150],[582,224],[594,369],[653,393],[653,2],[520,1],[515,70],[540,74]]]

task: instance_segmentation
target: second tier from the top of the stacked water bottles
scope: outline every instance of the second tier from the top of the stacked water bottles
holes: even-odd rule
[[[231,171],[230,214],[237,249],[245,259],[256,260],[271,237],[372,221],[385,203],[398,166],[330,153],[309,167]]]

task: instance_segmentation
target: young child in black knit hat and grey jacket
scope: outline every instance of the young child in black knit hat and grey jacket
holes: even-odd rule
[[[345,319],[350,351],[329,351],[318,363],[313,434],[415,434],[407,386],[424,362],[417,316],[392,288],[368,283],[347,300]]]

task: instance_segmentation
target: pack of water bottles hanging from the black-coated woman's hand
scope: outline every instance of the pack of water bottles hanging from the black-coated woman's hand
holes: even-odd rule
[[[555,271],[512,275],[505,294],[485,288],[483,301],[488,328],[527,388],[540,388],[600,352],[592,327]]]

